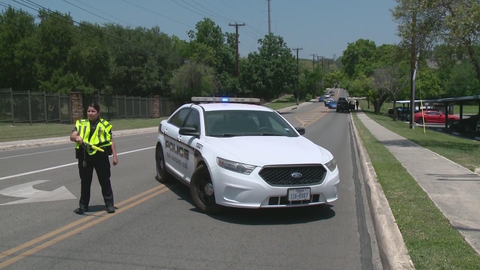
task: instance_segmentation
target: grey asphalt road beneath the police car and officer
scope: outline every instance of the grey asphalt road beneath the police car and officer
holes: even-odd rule
[[[156,134],[142,134],[115,138],[117,212],[105,212],[94,173],[90,212],[77,215],[72,144],[1,151],[0,194],[9,196],[0,195],[0,269],[381,269],[348,113],[312,102],[284,117],[335,156],[336,202],[204,215],[186,186],[156,181]],[[30,197],[63,199],[2,205],[24,199],[14,196],[31,182],[43,192]]]

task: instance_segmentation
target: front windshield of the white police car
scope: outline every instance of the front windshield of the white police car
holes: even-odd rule
[[[204,117],[207,136],[298,137],[288,123],[273,111],[214,110],[205,111]]]

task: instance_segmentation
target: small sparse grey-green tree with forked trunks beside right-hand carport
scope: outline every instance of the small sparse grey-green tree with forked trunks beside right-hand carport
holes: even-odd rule
[[[393,98],[393,120],[396,121],[396,97],[400,91],[405,89],[408,82],[405,68],[392,65],[377,68],[373,72],[373,78],[378,93],[378,99],[374,101],[375,112],[380,113],[380,107],[384,103],[387,91]]]

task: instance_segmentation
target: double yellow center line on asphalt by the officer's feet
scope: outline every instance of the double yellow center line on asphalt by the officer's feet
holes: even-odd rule
[[[166,192],[167,190],[169,190],[169,188],[168,188],[166,185],[160,184],[160,185],[158,185],[158,186],[156,186],[156,187],[154,187],[154,188],[152,188],[152,189],[149,189],[149,190],[147,190],[147,191],[145,191],[145,192],[142,192],[142,193],[140,193],[140,194],[138,194],[138,195],[135,195],[135,196],[133,196],[133,197],[131,197],[131,198],[128,198],[128,199],[126,199],[126,200],[124,200],[124,201],[116,204],[117,207],[121,207],[121,206],[123,206],[123,205],[126,205],[126,206],[119,208],[118,210],[115,211],[115,213],[108,214],[108,215],[102,215],[102,214],[105,214],[106,212],[105,212],[105,211],[95,212],[95,213],[93,213],[93,214],[91,214],[91,215],[88,215],[87,217],[85,217],[85,218],[83,218],[83,219],[80,219],[80,220],[78,220],[78,221],[74,221],[74,222],[72,222],[72,223],[70,223],[70,224],[68,224],[68,225],[65,225],[65,226],[63,226],[63,227],[61,227],[61,228],[59,228],[59,229],[57,229],[57,230],[55,230],[55,231],[53,231],[53,232],[44,234],[44,235],[42,235],[42,236],[40,236],[40,237],[37,237],[37,238],[35,238],[35,239],[33,239],[33,240],[30,240],[30,241],[24,243],[24,244],[22,244],[22,245],[18,245],[18,246],[15,246],[15,247],[13,247],[13,248],[11,248],[11,249],[9,249],[9,250],[6,250],[6,251],[0,253],[0,259],[1,259],[1,258],[5,258],[5,257],[7,257],[7,256],[10,256],[10,255],[12,255],[12,254],[14,254],[14,253],[16,253],[16,252],[24,249],[24,248],[30,247],[30,246],[32,246],[32,245],[35,245],[35,244],[39,243],[39,242],[42,242],[42,241],[44,241],[44,240],[47,240],[48,238],[50,238],[50,237],[52,237],[52,236],[55,236],[55,235],[57,235],[57,234],[59,234],[59,233],[62,233],[62,232],[64,232],[64,231],[67,231],[67,230],[69,230],[69,229],[72,229],[73,227],[75,227],[75,226],[77,226],[77,225],[80,225],[80,224],[82,224],[82,223],[84,223],[84,222],[86,222],[86,221],[89,221],[89,220],[91,220],[91,219],[94,219],[94,218],[97,218],[97,217],[98,217],[97,219],[95,219],[95,220],[93,220],[93,221],[90,221],[90,222],[88,222],[88,223],[86,223],[86,224],[84,224],[84,225],[82,225],[82,226],[80,226],[80,227],[78,227],[78,228],[76,228],[76,229],[74,229],[74,230],[72,230],[72,231],[69,231],[68,233],[61,234],[60,236],[57,236],[57,237],[55,237],[54,239],[51,239],[51,240],[49,240],[49,241],[47,241],[47,242],[45,242],[45,243],[43,243],[43,244],[41,244],[41,245],[38,245],[38,246],[36,246],[36,247],[33,247],[33,248],[25,251],[24,253],[20,254],[20,255],[17,255],[17,256],[15,256],[15,257],[13,257],[13,258],[10,258],[10,259],[8,259],[8,260],[6,260],[6,261],[1,262],[1,263],[0,263],[0,269],[1,269],[1,268],[4,268],[4,267],[7,267],[7,266],[11,265],[12,263],[14,263],[14,262],[16,262],[16,261],[19,261],[19,260],[21,260],[21,259],[23,259],[23,258],[25,258],[25,257],[27,257],[27,256],[29,256],[29,255],[32,255],[32,254],[34,254],[34,253],[36,253],[36,252],[38,252],[38,251],[40,251],[40,250],[42,250],[42,249],[50,246],[50,245],[53,245],[53,244],[55,244],[55,243],[57,243],[57,242],[60,242],[61,240],[65,239],[65,238],[68,238],[68,237],[70,237],[70,236],[72,236],[72,235],[74,235],[74,234],[76,234],[76,233],[79,233],[79,232],[81,232],[81,231],[83,231],[83,230],[85,230],[85,229],[87,229],[87,228],[89,228],[89,227],[92,227],[92,226],[95,225],[95,224],[98,224],[98,223],[100,223],[100,222],[102,222],[102,221],[105,221],[105,220],[107,220],[107,219],[115,216],[115,215],[118,215],[118,214],[120,214],[121,212],[123,212],[123,211],[125,211],[125,210],[128,210],[128,209],[130,209],[130,208],[132,208],[132,207],[134,207],[134,206],[136,206],[136,205],[138,205],[138,204],[141,204],[141,203],[143,203],[144,201],[146,201],[146,200],[148,200],[148,199],[150,199],[150,198],[153,198],[153,197],[155,197],[155,196],[157,196],[157,195],[159,195],[159,194],[161,194],[161,193]],[[154,193],[152,193],[152,192],[154,192]],[[148,194],[150,194],[150,195],[148,195]],[[148,195],[148,196],[146,196],[146,195]],[[141,199],[136,200],[136,199],[138,199],[138,198],[141,198]]]

